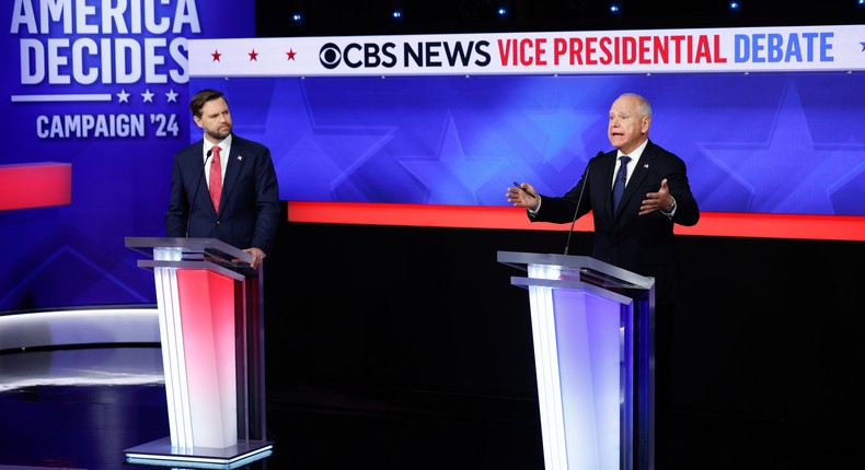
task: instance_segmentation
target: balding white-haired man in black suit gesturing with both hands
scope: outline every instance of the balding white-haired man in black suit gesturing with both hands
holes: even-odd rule
[[[672,425],[673,313],[680,298],[679,252],[673,224],[694,225],[700,209],[684,162],[648,138],[651,107],[625,93],[610,107],[608,137],[616,149],[589,160],[579,181],[562,197],[539,195],[523,183],[508,188],[508,202],[528,210],[532,222],[572,223],[592,211],[591,257],[655,278],[656,462],[669,468]],[[623,161],[626,173],[620,174]],[[616,178],[623,179],[614,207]],[[579,204],[579,207],[577,207]]]

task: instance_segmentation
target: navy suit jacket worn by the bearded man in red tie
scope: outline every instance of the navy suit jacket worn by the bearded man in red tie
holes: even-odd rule
[[[189,237],[218,238],[235,248],[256,247],[269,254],[279,224],[279,189],[270,151],[235,134],[231,139],[218,214],[204,177],[204,139],[174,155],[166,233],[185,237],[188,223]]]

